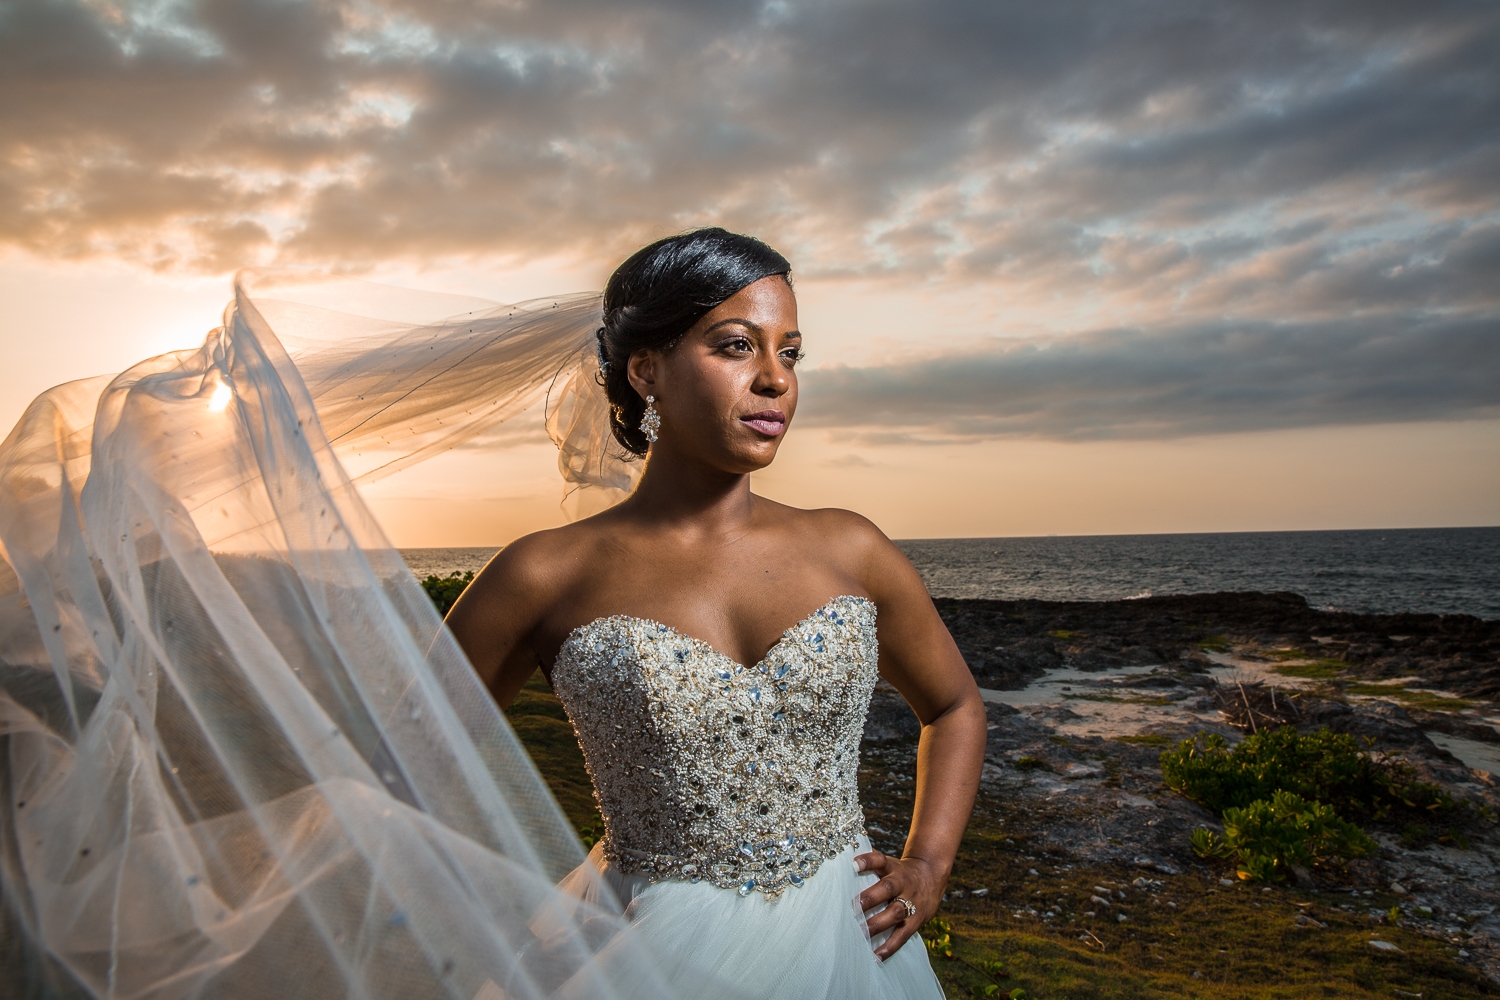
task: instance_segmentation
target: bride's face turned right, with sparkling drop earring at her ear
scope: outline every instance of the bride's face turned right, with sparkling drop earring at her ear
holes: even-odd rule
[[[796,412],[796,297],[780,276],[762,277],[716,306],[666,352],[630,357],[630,382],[656,396],[666,451],[726,472],[771,465]]]

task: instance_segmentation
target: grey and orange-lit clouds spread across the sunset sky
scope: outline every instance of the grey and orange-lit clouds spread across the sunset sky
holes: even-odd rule
[[[824,423],[1474,415],[1497,51],[1488,0],[10,0],[0,241],[224,271],[720,222],[1024,336],[818,376]]]

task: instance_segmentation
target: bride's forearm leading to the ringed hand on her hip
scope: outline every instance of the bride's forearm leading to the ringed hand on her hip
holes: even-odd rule
[[[920,859],[946,880],[980,790],[986,715],[978,691],[922,726],[916,801],[902,858]]]

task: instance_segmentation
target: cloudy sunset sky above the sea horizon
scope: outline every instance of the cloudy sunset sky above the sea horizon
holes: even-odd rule
[[[0,423],[234,270],[496,301],[794,264],[756,489],[892,537],[1500,523],[1500,4],[8,0]],[[540,435],[374,484],[561,522]]]

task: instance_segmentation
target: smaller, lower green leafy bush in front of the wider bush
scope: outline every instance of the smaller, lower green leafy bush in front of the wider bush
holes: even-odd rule
[[[1269,799],[1224,810],[1224,838],[1197,829],[1192,849],[1204,858],[1234,859],[1240,879],[1281,882],[1292,865],[1360,858],[1372,852],[1376,843],[1330,807],[1292,792],[1275,792]]]

